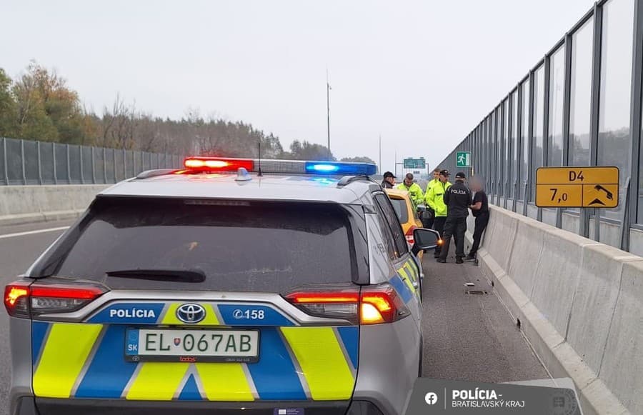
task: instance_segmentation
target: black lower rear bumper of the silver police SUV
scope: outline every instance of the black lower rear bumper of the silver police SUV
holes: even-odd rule
[[[119,401],[109,399],[50,399],[22,396],[11,415],[278,415],[279,409],[296,409],[293,415],[383,415],[369,401],[268,401],[268,402],[196,402],[196,401]],[[302,411],[303,409],[303,411]]]

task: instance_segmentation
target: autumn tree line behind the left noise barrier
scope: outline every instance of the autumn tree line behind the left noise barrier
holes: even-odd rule
[[[284,150],[279,137],[244,121],[188,111],[181,119],[154,116],[117,95],[101,114],[87,109],[66,79],[31,61],[11,79],[0,68],[0,137],[168,154],[216,154],[266,159],[335,160],[326,146],[295,140]],[[342,161],[367,161],[368,157]]]

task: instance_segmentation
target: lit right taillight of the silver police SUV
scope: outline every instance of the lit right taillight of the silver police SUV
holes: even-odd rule
[[[295,291],[286,299],[313,316],[338,318],[357,324],[392,323],[409,314],[404,301],[389,284],[339,291]]]

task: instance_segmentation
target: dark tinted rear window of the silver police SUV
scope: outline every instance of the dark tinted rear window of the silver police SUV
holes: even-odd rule
[[[112,289],[283,292],[352,281],[347,210],[337,204],[103,199],[68,245],[54,274]],[[59,254],[56,254],[58,256]],[[204,282],[106,276],[135,269],[198,270]]]

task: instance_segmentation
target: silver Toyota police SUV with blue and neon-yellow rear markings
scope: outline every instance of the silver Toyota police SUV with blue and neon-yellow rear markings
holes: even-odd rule
[[[5,289],[12,415],[400,414],[422,271],[372,164],[194,157],[96,196]]]

